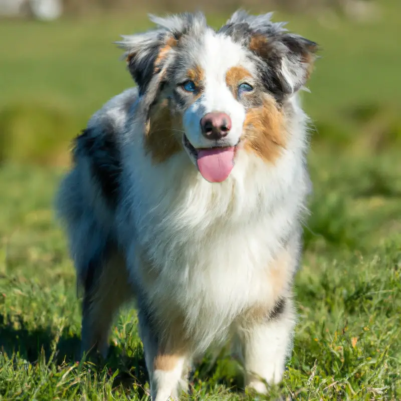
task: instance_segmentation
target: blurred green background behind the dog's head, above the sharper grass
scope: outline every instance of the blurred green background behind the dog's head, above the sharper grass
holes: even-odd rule
[[[112,42],[149,28],[148,12],[201,9],[219,27],[239,7],[322,46],[304,96],[314,142],[401,144],[399,0],[0,0],[0,162],[68,162],[91,113],[133,85]]]

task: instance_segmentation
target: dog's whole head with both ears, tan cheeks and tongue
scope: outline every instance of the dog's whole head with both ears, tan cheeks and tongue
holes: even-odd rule
[[[239,149],[270,162],[279,156],[283,105],[308,79],[317,45],[270,17],[237,12],[217,32],[200,14],[153,17],[157,30],[119,42],[154,160],[183,148],[205,179],[221,182]]]

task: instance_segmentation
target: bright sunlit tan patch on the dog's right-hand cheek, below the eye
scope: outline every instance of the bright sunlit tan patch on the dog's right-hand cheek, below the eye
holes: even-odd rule
[[[274,162],[283,148],[287,137],[284,128],[284,116],[276,102],[266,97],[263,106],[248,111],[244,122],[244,147],[255,152],[259,157]]]

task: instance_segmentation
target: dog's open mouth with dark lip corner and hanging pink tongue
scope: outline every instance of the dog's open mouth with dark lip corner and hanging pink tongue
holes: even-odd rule
[[[223,182],[234,167],[237,145],[196,149],[185,134],[182,144],[200,174],[209,182]]]

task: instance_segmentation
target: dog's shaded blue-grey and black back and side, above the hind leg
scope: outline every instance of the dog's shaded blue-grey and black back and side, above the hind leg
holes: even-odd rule
[[[59,218],[68,230],[71,255],[83,285],[90,261],[101,258],[107,244],[115,241],[121,135],[136,99],[137,89],[128,89],[92,116],[75,139],[73,168],[57,196]]]

